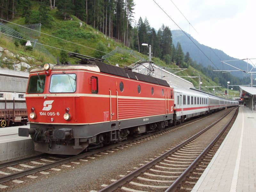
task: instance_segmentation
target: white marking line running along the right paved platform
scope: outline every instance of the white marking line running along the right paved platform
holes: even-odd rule
[[[239,174],[240,161],[241,161],[241,153],[242,153],[242,145],[243,145],[243,135],[244,135],[244,113],[243,113],[243,122],[242,122],[239,147],[238,147],[237,156],[236,156],[236,165],[235,165],[235,169],[233,172],[231,187],[229,190],[230,192],[236,191],[236,187],[237,187],[238,174]]]

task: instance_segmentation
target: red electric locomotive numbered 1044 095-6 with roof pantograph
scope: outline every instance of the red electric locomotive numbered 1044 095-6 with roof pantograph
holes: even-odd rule
[[[69,56],[80,64],[45,64],[29,74],[30,128],[19,128],[19,136],[30,134],[36,151],[76,155],[172,123],[174,93],[166,81]]]

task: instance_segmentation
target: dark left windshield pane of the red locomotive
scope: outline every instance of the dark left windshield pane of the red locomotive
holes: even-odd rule
[[[44,92],[45,75],[35,75],[29,78],[28,93]]]

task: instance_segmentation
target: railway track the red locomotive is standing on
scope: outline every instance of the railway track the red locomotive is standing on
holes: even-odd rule
[[[87,152],[87,153],[79,154],[76,156],[61,157],[61,156],[54,156],[49,154],[40,154],[38,156],[32,156],[32,157],[21,158],[13,161],[4,162],[0,164],[0,183],[5,183],[10,180],[16,180],[24,176],[30,177],[29,175],[37,172],[41,172],[42,174],[44,174],[45,170],[52,169],[52,168],[53,168],[52,170],[58,170],[58,169],[54,169],[54,167],[59,165],[66,166],[65,164],[68,164],[70,162],[74,163],[77,160],[78,162],[75,162],[75,164],[79,163],[79,160],[87,161],[84,158],[97,155],[97,154],[103,153],[104,151],[106,152],[107,150],[124,146],[127,144],[130,145],[129,143],[133,143],[133,144],[134,142],[139,143],[138,140],[143,141],[143,140],[147,140],[150,137],[160,136],[160,134],[164,134],[165,132],[170,132],[170,131],[180,129],[181,127],[184,127],[189,124],[193,124],[195,122],[203,120],[204,118],[207,118],[207,117],[196,118],[194,120],[187,121],[183,124],[176,125],[174,127],[162,129],[160,131],[157,131],[151,134],[142,135],[140,137],[136,137],[121,143],[117,143],[111,146],[107,146],[104,148],[94,150],[92,152]]]

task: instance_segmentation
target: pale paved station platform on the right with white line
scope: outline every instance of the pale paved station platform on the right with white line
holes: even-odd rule
[[[192,192],[256,191],[256,112],[244,106]]]

